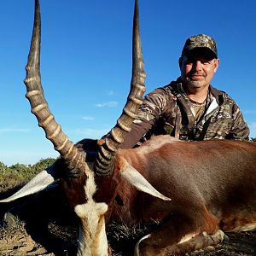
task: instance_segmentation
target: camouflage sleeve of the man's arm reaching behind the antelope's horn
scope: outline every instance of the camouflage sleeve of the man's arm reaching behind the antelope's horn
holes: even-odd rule
[[[131,131],[125,136],[120,148],[133,148],[139,140],[151,129],[166,106],[164,90],[156,89],[145,96],[143,105],[139,108],[137,119],[134,120]]]

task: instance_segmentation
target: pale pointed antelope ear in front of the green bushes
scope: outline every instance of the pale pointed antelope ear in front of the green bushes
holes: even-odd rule
[[[15,201],[21,197],[35,194],[47,188],[57,179],[55,164],[56,161],[44,171],[39,172],[36,177],[33,177],[29,183],[26,183],[26,185],[18,190],[14,195],[11,195],[6,199],[1,200],[0,203]]]

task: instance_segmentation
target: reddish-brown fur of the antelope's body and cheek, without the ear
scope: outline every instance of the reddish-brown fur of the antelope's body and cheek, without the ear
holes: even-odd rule
[[[172,201],[126,183],[119,175],[123,157]],[[111,177],[96,177],[95,200],[108,203],[107,222],[162,223],[139,244],[140,255],[180,254],[220,242],[219,230],[256,226],[255,183],[256,143],[185,143],[160,136],[139,148],[120,149]],[[194,237],[179,243],[189,234]]]

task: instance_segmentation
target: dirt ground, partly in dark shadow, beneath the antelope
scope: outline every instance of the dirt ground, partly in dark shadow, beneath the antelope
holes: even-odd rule
[[[60,200],[60,195],[51,195],[54,196],[47,195],[47,201],[42,200],[43,194],[35,196],[32,200],[25,199],[15,204],[0,206],[0,219],[3,219],[4,212],[11,207],[15,207],[13,212],[17,212],[19,216],[16,218],[9,215],[9,225],[4,226],[2,223],[0,227],[0,255],[75,255],[78,220],[65,202]],[[26,214],[24,207],[17,208],[22,206],[24,201]],[[30,203],[27,204],[27,201]],[[113,248],[113,255],[133,255],[136,241],[144,235],[143,227],[133,227],[129,230],[125,226],[111,224],[108,228],[108,241]],[[227,236],[230,240],[221,245],[187,255],[256,256],[256,231],[230,233]]]

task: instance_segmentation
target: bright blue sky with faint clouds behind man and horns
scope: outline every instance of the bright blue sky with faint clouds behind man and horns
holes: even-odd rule
[[[216,39],[212,85],[232,96],[256,137],[256,2],[140,0],[147,92],[177,79],[189,36]],[[77,142],[115,125],[131,81],[133,1],[41,0],[41,75],[55,119]],[[33,164],[58,154],[25,98],[32,0],[0,1],[0,161]]]

